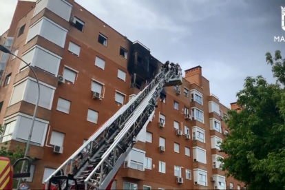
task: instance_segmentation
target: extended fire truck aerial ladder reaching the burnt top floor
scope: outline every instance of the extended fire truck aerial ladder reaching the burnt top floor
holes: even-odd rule
[[[152,120],[163,87],[181,84],[180,65],[167,61],[145,89],[123,105],[45,180],[43,189],[111,189],[136,137]]]

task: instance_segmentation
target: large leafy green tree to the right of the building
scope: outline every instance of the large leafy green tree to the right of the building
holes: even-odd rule
[[[226,176],[248,189],[285,188],[285,59],[266,53],[275,84],[262,76],[246,77],[237,93],[240,112],[229,110],[226,125],[231,133],[220,145],[227,154],[222,161]]]

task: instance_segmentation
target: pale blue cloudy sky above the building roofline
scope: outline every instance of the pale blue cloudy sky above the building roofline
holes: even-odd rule
[[[211,93],[229,107],[246,76],[275,79],[265,54],[285,42],[284,0],[76,0],[131,41],[140,41],[162,63],[182,70],[200,65]],[[10,25],[17,0],[0,0],[0,34]]]

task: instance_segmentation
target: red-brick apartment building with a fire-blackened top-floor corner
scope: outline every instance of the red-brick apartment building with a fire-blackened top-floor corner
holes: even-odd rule
[[[129,41],[74,0],[19,1],[0,43],[34,68],[41,85],[29,151],[35,160],[26,179],[30,189],[42,188],[162,64],[148,47]],[[2,57],[1,143],[13,149],[28,140],[37,87],[29,67]],[[226,156],[218,143],[229,132],[222,120],[227,110],[211,94],[202,67],[185,70],[181,86],[160,94],[153,120],[138,135],[112,189],[242,189],[224,177],[217,160]]]

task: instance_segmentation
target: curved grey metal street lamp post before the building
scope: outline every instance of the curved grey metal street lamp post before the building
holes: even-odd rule
[[[6,53],[6,54],[11,54],[12,56],[15,56],[18,59],[20,59],[21,61],[23,61],[23,59],[19,58],[19,56],[17,56],[17,55],[14,55],[10,50],[8,50],[3,45],[0,45],[0,52]],[[40,85],[39,85],[39,79],[36,76],[36,73],[34,72],[33,68],[30,67],[30,65],[28,63],[26,63],[25,61],[23,61],[23,63],[25,63],[25,65],[27,65],[30,68],[30,70],[32,70],[32,73],[34,74],[34,77],[36,78],[36,83],[38,85],[38,96],[36,97],[36,106],[34,107],[34,115],[32,116],[32,124],[31,124],[30,133],[29,133],[29,137],[28,137],[27,147],[25,148],[24,158],[26,158],[28,156],[28,152],[29,152],[29,148],[30,148],[30,142],[31,142],[31,138],[32,138],[32,129],[34,129],[34,120],[36,118],[36,111],[37,111],[38,105],[39,105]],[[25,160],[23,161],[21,173],[23,173],[24,167],[25,167]],[[19,179],[19,181],[18,181],[17,188],[19,188],[20,181],[21,181],[21,179]]]

